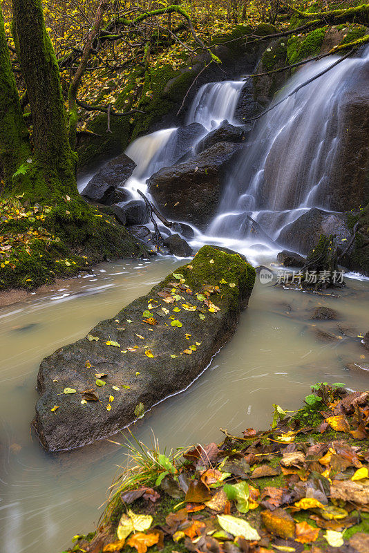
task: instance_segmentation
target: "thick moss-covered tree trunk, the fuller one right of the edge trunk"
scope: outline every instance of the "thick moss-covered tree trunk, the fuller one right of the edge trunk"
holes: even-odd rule
[[[75,164],[71,151],[59,67],[46,31],[41,0],[13,0],[17,54],[26,83],[33,124],[30,178],[26,196],[49,200],[77,195]]]

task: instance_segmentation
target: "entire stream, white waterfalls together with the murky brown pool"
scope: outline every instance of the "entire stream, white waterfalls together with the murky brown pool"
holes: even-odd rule
[[[207,234],[194,229],[194,249],[218,243],[246,254],[254,265],[270,267],[282,248],[250,236],[243,225],[245,214],[263,223],[269,236],[277,239],[283,226],[304,210],[330,209],[328,177],[330,163],[339,155],[341,132],[338,124],[332,127],[332,114],[344,93],[345,79],[360,71],[367,57],[364,53],[346,59],[329,77],[316,79],[255,125],[249,151],[235,164]],[[303,68],[284,93],[330,63],[332,58]],[[234,113],[244,84],[226,81],[200,88],[187,124],[200,122],[207,131],[224,119],[240,124]],[[318,115],[310,127],[303,113],[312,109]],[[126,183],[133,197],[139,197],[137,189],[146,193],[146,179],[170,165],[176,133],[176,128],[162,129],[129,146],[126,153],[137,164]],[[294,149],[291,141],[283,148],[280,140],[285,135],[293,137],[300,149],[297,145]],[[330,162],[325,162],[327,158]],[[274,160],[273,171],[268,159]],[[308,172],[301,160],[308,162]],[[265,196],[260,192],[271,174],[275,186]],[[84,185],[86,180],[79,189]],[[0,543],[5,553],[61,552],[73,534],[93,529],[106,489],[126,462],[124,449],[108,440],[60,455],[41,449],[30,431],[41,359],[83,337],[98,321],[113,317],[182,263],[170,256],[102,263],[93,274],[55,284],[0,310]],[[220,442],[220,427],[231,433],[267,428],[272,404],[297,409],[315,382],[366,388],[366,371],[346,366],[368,363],[360,336],[369,330],[369,279],[348,274],[346,282],[346,288],[334,294],[316,295],[263,284],[257,277],[233,339],[191,387],[146,413],[133,428],[135,436],[146,444],[155,437],[162,450]],[[319,306],[337,310],[337,320],[312,320]],[[333,339],[324,339],[324,332]],[[122,431],[112,439],[124,443],[125,438]]]

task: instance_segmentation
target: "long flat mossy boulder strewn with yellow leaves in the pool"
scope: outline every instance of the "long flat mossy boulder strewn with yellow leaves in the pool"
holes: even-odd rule
[[[60,451],[101,440],[187,388],[234,333],[254,280],[238,254],[204,246],[191,265],[44,359],[33,421],[41,444]]]

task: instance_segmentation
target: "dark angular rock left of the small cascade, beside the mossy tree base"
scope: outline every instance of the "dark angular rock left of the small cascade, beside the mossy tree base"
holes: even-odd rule
[[[135,167],[135,162],[122,153],[97,171],[82,191],[82,196],[94,202],[105,203],[106,198],[111,196],[115,188],[124,185]]]

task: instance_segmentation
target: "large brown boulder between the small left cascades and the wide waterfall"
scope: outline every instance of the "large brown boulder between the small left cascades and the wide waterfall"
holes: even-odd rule
[[[148,186],[160,212],[171,219],[206,227],[216,214],[227,170],[241,148],[241,144],[218,142],[193,160],[153,174]]]

